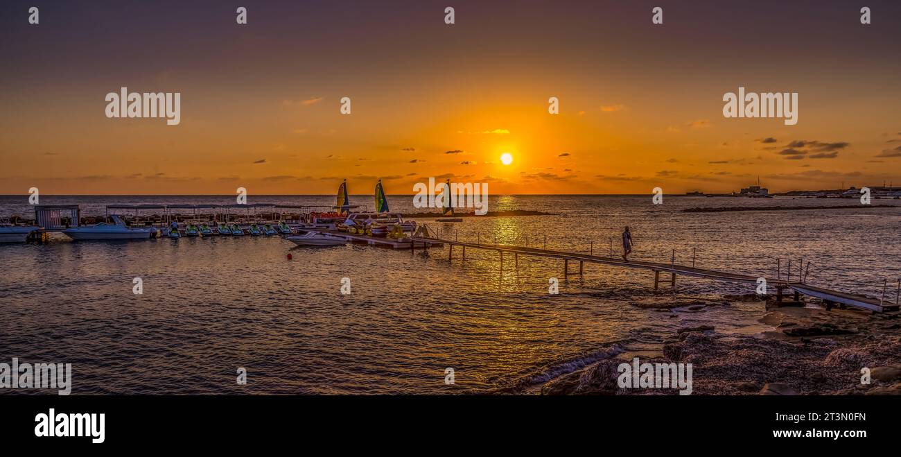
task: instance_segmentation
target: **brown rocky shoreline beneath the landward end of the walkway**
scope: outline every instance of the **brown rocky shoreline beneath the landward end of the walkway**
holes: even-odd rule
[[[687,310],[716,305],[715,300],[698,301],[692,304],[683,298],[670,299],[669,306],[663,301],[631,305],[660,312],[675,306]],[[721,332],[715,325],[685,326],[665,337],[660,353],[641,361],[691,363],[691,395],[901,394],[901,315],[774,305],[767,304],[759,322],[775,330],[735,334]],[[678,388],[620,388],[617,367],[633,362],[628,346],[621,342],[600,350],[607,356],[542,382],[540,393],[678,395]],[[869,383],[861,383],[865,374]]]

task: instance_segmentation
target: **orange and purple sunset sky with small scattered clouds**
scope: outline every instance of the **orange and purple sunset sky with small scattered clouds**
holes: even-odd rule
[[[0,194],[901,185],[901,3],[785,3],[5,2]],[[724,118],[740,86],[798,123]],[[105,117],[120,87],[180,92],[181,123]]]

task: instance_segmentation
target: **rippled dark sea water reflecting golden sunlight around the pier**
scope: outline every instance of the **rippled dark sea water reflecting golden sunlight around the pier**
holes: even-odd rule
[[[31,215],[27,197],[0,197],[0,217]],[[371,197],[351,203],[372,207]],[[412,212],[411,197],[388,197]],[[41,197],[102,215],[107,204],[230,203],[233,197]],[[250,203],[332,205],[333,197],[251,197]],[[781,258],[811,262],[808,282],[879,297],[901,276],[901,202],[856,200],[500,196],[489,209],[555,215],[423,220],[445,236],[608,253],[624,225],[633,258],[773,276]],[[824,206],[784,212],[685,213],[695,206]],[[293,260],[287,260],[291,253]],[[666,299],[652,273],[523,260],[447,248],[296,248],[280,237],[0,245],[0,361],[69,362],[75,394],[473,393],[541,380],[593,360],[614,341],[641,351],[675,328],[711,323],[760,331],[760,303],[657,313],[629,301]],[[795,263],[796,265],[796,263]],[[570,269],[574,267],[570,265]],[[578,267],[577,267],[578,268]],[[793,271],[796,275],[797,271]],[[143,295],[132,294],[132,279]],[[560,278],[560,295],[548,279]],[[340,293],[349,278],[351,294]],[[722,297],[751,285],[679,278],[678,294]],[[248,371],[238,385],[236,370]],[[444,383],[446,368],[455,384]],[[16,393],[40,390],[19,389]]]

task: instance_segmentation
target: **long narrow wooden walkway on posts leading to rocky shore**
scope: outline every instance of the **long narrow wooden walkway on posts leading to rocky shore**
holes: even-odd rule
[[[476,242],[458,242],[458,241],[450,241],[444,240],[441,238],[432,238],[432,237],[422,237],[417,236],[412,238],[415,242],[423,242],[423,245],[429,245],[434,243],[444,243],[448,244],[450,247],[450,251],[448,252],[448,260],[453,259],[453,248],[454,246],[462,248],[462,259],[466,260],[466,250],[469,249],[478,249],[485,251],[497,251],[500,253],[501,262],[504,261],[504,254],[513,254],[514,262],[516,266],[519,265],[519,256],[532,256],[532,257],[545,257],[551,259],[559,259],[563,260],[563,275],[569,276],[570,274],[579,274],[581,275],[584,270],[584,263],[600,263],[604,265],[611,265],[614,267],[621,268],[629,268],[629,269],[642,269],[642,270],[651,270],[654,272],[654,288],[659,288],[660,283],[669,282],[670,286],[676,285],[676,277],[677,275],[691,276],[695,278],[703,278],[703,279],[714,279],[719,281],[727,281],[727,282],[746,282],[757,284],[758,279],[763,278],[767,281],[768,287],[773,287],[777,289],[777,300],[781,301],[783,296],[783,290],[791,289],[795,292],[795,299],[799,299],[799,294],[804,294],[809,297],[817,297],[824,301],[826,305],[826,309],[831,309],[833,306],[853,306],[858,308],[867,309],[869,311],[873,311],[874,313],[884,313],[887,311],[897,311],[898,304],[897,301],[895,303],[891,303],[884,299],[867,297],[858,294],[850,294],[847,292],[842,292],[839,290],[827,289],[827,288],[818,288],[815,286],[810,286],[798,281],[791,281],[786,279],[778,279],[778,278],[767,278],[760,276],[752,276],[752,275],[744,275],[738,273],[730,273],[725,271],[718,270],[705,270],[699,269],[694,266],[686,266],[679,265],[675,262],[671,263],[658,263],[658,262],[650,262],[650,261],[641,261],[641,260],[622,260],[622,259],[614,259],[612,257],[602,257],[593,254],[583,254],[578,252],[566,252],[566,251],[552,251],[548,249],[538,249],[538,248],[529,248],[523,246],[505,246],[503,244],[486,244],[486,243],[476,243]],[[571,273],[569,271],[569,261],[578,261],[578,273]],[[660,279],[660,272],[669,273],[669,279]],[[800,276],[800,275],[799,275]],[[901,287],[901,286],[899,286]],[[884,294],[883,294],[884,295]]]

